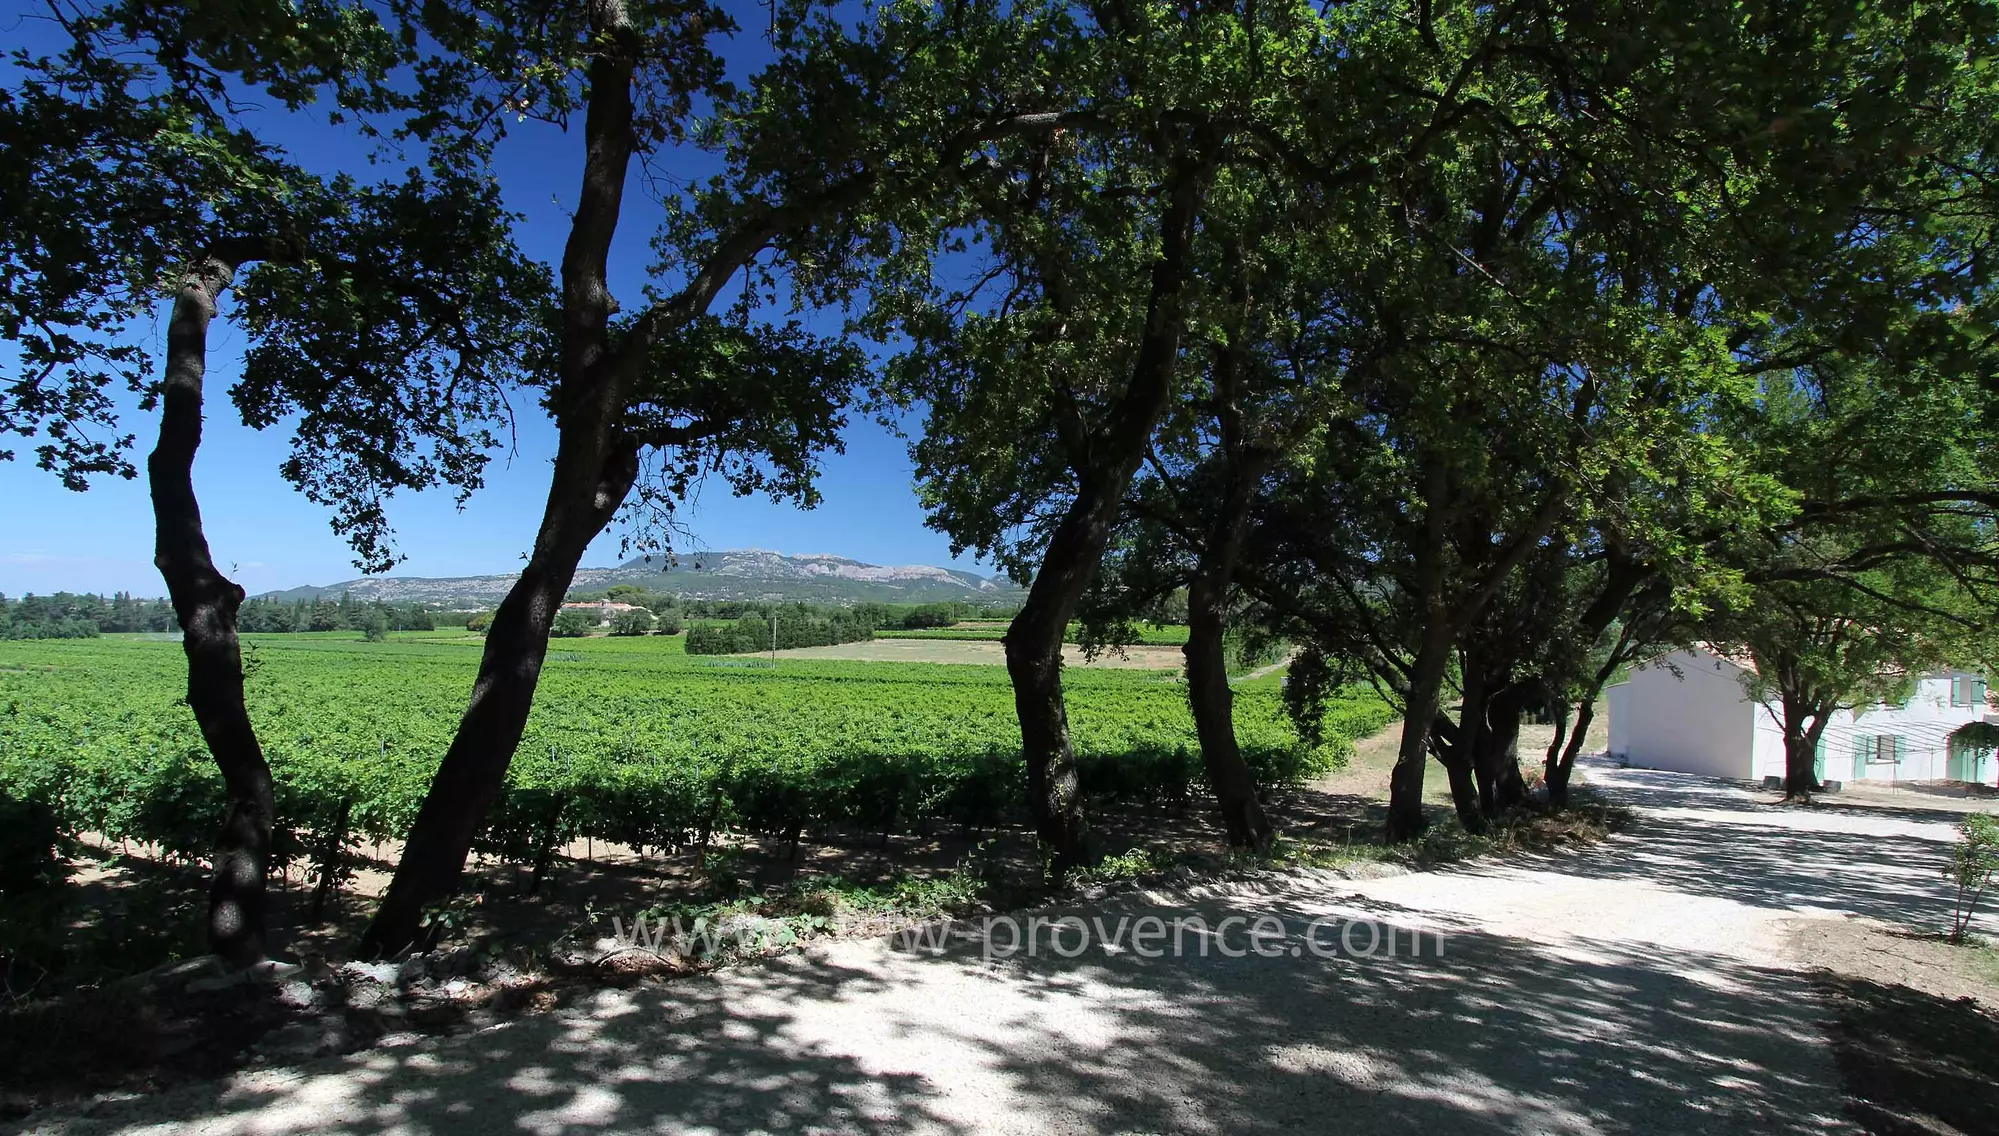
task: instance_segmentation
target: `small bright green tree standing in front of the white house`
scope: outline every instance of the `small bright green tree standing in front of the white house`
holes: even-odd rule
[[[1799,322],[1763,348],[1807,362],[1767,374],[1737,430],[1797,504],[1731,540],[1749,590],[1705,630],[1779,704],[1787,798],[1819,790],[1833,712],[1893,700],[1989,640],[1999,356],[1979,318],[1925,304],[1875,328]]]

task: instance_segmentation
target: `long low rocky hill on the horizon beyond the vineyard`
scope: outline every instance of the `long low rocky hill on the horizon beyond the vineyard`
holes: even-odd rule
[[[492,606],[514,586],[504,576],[364,576],[340,584],[266,592],[270,600],[316,600],[352,594],[356,600],[390,604],[442,604],[448,608]],[[732,548],[682,556],[662,570],[658,560],[628,560],[616,568],[580,568],[572,592],[600,592],[612,584],[640,584],[654,592],[674,592],[698,600],[814,600],[822,604],[936,604],[966,600],[976,604],[1017,604],[1025,590],[956,568],[928,564],[882,566],[846,556],[784,556],[760,548]]]

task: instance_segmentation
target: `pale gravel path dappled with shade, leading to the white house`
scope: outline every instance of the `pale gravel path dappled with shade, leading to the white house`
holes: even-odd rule
[[[998,958],[1001,928],[936,954],[836,942],[38,1130],[1849,1130],[1783,928],[1841,912],[1937,924],[1949,824],[1777,810],[1673,774],[1591,780],[1639,820],[1581,854],[1139,896],[1073,912],[1099,920],[1075,958],[1045,934],[1033,958]],[[1183,930],[1179,958],[1171,936],[1133,940],[1137,922],[1101,950],[1143,916],[1243,922],[1219,944]],[[1251,940],[1263,916],[1271,934]],[[1147,942],[1165,954],[1133,950]],[[1215,952],[1193,954],[1203,942]],[[1061,944],[1079,946],[1073,928]]]

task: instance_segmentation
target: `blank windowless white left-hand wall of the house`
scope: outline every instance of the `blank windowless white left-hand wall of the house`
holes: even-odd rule
[[[1739,666],[1677,650],[1609,688],[1611,754],[1647,770],[1747,778],[1755,710]]]

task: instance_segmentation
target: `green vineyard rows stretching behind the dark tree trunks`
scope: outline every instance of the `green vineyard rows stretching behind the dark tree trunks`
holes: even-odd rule
[[[278,778],[276,860],[400,838],[478,666],[462,632],[360,642],[246,636],[250,714]],[[0,786],[68,832],[204,856],[222,786],[180,700],[164,638],[0,644]],[[1185,800],[1201,766],[1173,674],[1073,670],[1085,790]],[[1273,680],[1245,684],[1235,728],[1263,784],[1339,760],[1377,728],[1371,694],[1335,702],[1303,752]],[[562,642],[482,850],[544,864],[578,838],[672,850],[718,832],[922,832],[1000,826],[1021,802],[1001,668],[688,656],[678,638]]]

